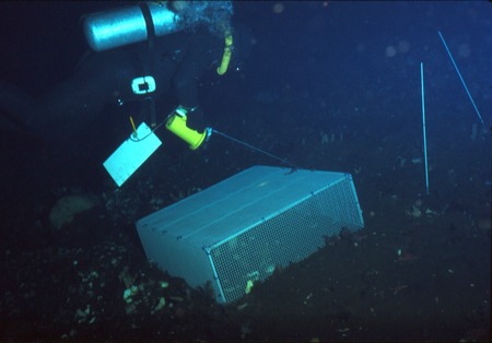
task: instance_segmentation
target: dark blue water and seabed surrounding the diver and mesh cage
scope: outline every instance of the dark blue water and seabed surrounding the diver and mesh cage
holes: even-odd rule
[[[70,76],[86,49],[81,15],[116,5],[2,2],[0,80],[39,95]],[[202,80],[209,123],[302,167],[351,173],[366,227],[258,285],[245,307],[222,307],[150,267],[133,223],[276,161],[220,137],[190,152],[161,132],[163,146],[116,190],[102,163],[129,134],[126,109],[65,146],[5,132],[0,340],[489,339],[492,5],[255,1],[235,3],[235,20],[255,48],[241,73]],[[56,201],[87,193],[99,205],[54,232]],[[145,289],[130,310],[126,275]]]

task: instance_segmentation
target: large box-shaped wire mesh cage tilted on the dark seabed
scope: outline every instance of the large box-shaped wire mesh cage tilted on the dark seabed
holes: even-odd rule
[[[235,301],[276,268],[364,226],[350,174],[255,166],[137,222],[148,258]]]

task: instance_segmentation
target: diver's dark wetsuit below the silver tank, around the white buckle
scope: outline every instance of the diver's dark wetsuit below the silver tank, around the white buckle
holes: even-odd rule
[[[102,52],[91,51],[82,59],[73,78],[38,99],[0,85],[2,120],[8,118],[37,137],[56,141],[69,139],[91,123],[105,105],[148,96],[136,95],[131,90],[131,81],[145,75],[155,80],[153,97],[159,99],[173,87],[179,103],[176,105],[192,108],[198,106],[198,80],[220,62],[222,52],[223,38],[207,29],[155,37],[151,50],[149,43],[143,42]]]

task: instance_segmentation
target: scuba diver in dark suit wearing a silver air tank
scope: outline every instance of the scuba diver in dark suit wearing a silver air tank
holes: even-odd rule
[[[232,24],[232,14],[231,1],[164,1],[89,15],[84,33],[92,50],[71,79],[35,99],[0,83],[1,128],[62,142],[108,104],[142,102],[153,116],[174,92],[188,127],[202,131],[200,78],[237,68],[239,46],[243,56],[250,48],[249,33]],[[140,28],[129,28],[137,19]]]

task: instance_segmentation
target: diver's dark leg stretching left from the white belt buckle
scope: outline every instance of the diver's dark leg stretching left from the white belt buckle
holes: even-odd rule
[[[131,90],[134,67],[125,51],[93,54],[77,74],[32,99],[19,88],[0,85],[2,129],[30,131],[50,141],[66,141],[94,121],[103,107]],[[129,80],[126,80],[129,79]]]

